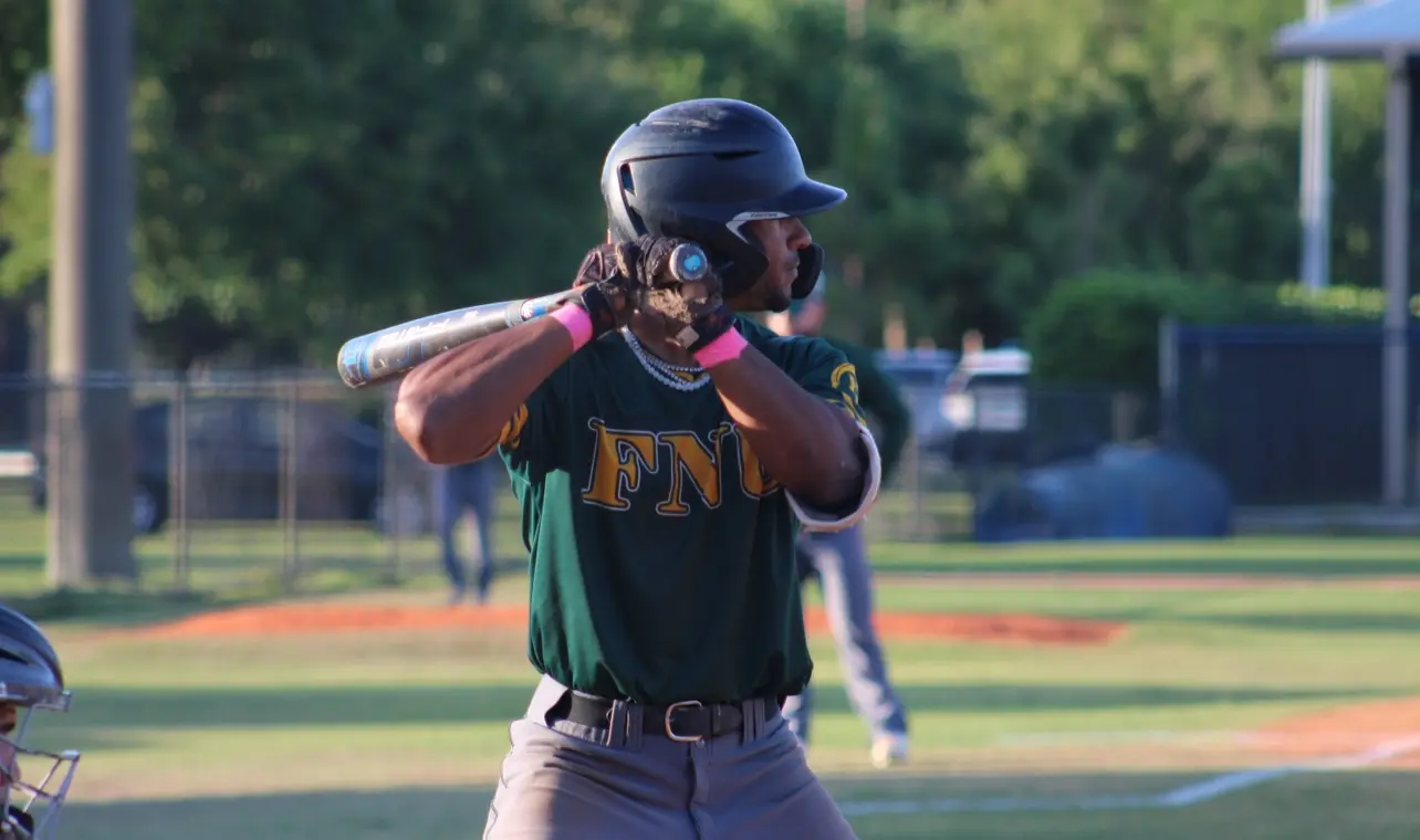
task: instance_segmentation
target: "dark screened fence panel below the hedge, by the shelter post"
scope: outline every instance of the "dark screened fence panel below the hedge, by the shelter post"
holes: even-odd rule
[[[1376,505],[1387,467],[1420,487],[1420,326],[1399,457],[1386,448],[1379,326],[1164,326],[1167,426],[1242,505]]]

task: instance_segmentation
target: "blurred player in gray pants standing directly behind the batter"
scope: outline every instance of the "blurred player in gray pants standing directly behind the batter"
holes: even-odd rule
[[[825,278],[819,275],[814,292],[794,301],[787,312],[767,316],[765,324],[780,335],[814,335],[842,350],[858,369],[859,407],[876,426],[875,436],[882,457],[883,487],[902,460],[912,430],[912,413],[897,386],[873,360],[872,352],[852,342],[822,335],[828,305]],[[862,524],[838,532],[804,532],[798,541],[801,582],[816,576],[824,593],[824,609],[838,643],[848,701],[872,732],[872,761],[888,768],[907,761],[907,712],[888,680],[878,633],[873,630],[873,578],[863,548]],[[808,745],[812,687],[788,698],[784,715],[799,741]]]

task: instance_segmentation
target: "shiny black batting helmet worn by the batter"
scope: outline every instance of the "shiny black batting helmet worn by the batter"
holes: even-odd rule
[[[622,132],[602,166],[612,238],[655,234],[700,243],[727,298],[768,267],[761,245],[741,230],[746,221],[811,216],[846,197],[808,177],[794,138],[772,114],[738,99],[657,108]],[[822,265],[822,247],[799,253],[794,298],[812,291]]]

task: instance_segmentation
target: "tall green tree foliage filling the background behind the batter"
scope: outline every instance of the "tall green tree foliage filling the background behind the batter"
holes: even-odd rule
[[[44,6],[0,0],[0,126],[47,54]],[[848,189],[812,230],[835,278],[861,260],[831,318],[868,341],[889,301],[914,336],[997,341],[1068,278],[1156,272],[1089,298],[1125,346],[1118,318],[1159,295],[1292,278],[1301,68],[1268,44],[1295,0],[866,7],[855,33],[822,0],[135,0],[145,335],[175,360],[320,363],[355,332],[558,288],[602,233],[611,142],[703,95],[770,108]],[[1335,277],[1375,285],[1380,74],[1332,79]],[[0,294],[47,268],[48,177],[23,146],[0,160]]]

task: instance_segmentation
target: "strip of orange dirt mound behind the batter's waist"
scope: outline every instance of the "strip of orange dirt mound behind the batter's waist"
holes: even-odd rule
[[[237,607],[190,616],[139,630],[145,637],[288,636],[297,633],[359,633],[389,630],[527,627],[523,606],[379,606],[295,603]],[[805,616],[809,633],[826,633],[821,609]],[[879,612],[878,631],[888,639],[941,639],[1000,644],[1108,644],[1125,633],[1112,621],[1054,619],[1031,614],[940,614]]]

